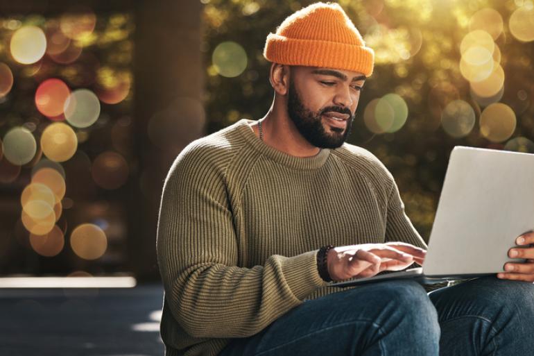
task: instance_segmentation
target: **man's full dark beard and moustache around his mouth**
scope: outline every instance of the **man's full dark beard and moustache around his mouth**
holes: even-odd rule
[[[349,115],[349,119],[347,119],[347,127],[344,129],[331,127],[332,133],[327,133],[325,126],[322,125],[321,115],[329,111],[341,112]],[[350,128],[355,116],[355,113],[353,115],[349,108],[342,108],[339,106],[328,106],[317,112],[308,110],[302,103],[292,80],[290,80],[289,83],[287,112],[300,135],[307,139],[310,144],[313,144],[313,146],[319,147],[320,149],[337,149],[340,147],[350,134]]]

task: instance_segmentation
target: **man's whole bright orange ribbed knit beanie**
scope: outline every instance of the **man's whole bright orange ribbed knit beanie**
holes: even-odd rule
[[[282,65],[304,65],[372,74],[374,52],[337,3],[313,3],[269,33],[264,57]]]

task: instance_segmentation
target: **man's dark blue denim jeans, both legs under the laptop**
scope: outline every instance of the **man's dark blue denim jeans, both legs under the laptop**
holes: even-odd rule
[[[220,356],[527,356],[534,285],[485,277],[427,294],[377,282],[308,300]]]

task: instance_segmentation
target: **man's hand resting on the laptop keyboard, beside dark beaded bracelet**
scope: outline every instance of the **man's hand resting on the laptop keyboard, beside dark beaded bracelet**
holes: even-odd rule
[[[422,264],[427,251],[403,242],[340,246],[328,251],[332,280],[372,277],[381,271],[400,271],[413,262]]]

